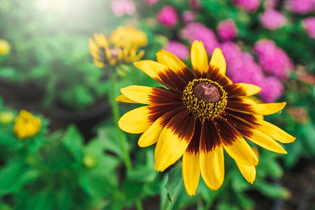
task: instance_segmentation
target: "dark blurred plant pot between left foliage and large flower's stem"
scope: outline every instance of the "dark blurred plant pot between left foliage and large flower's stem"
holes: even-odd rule
[[[86,141],[89,141],[89,139],[95,136],[92,128],[106,119],[110,113],[111,108],[108,101],[100,100],[84,112],[76,112],[74,110],[69,110],[62,106],[62,104],[56,104],[47,114],[50,115],[49,117],[52,119],[59,121],[56,121],[55,125],[52,125],[52,129],[63,128],[69,123],[74,123],[84,135]]]

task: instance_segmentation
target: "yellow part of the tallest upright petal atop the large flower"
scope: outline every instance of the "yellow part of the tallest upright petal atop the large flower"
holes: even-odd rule
[[[191,64],[195,72],[201,75],[208,72],[208,55],[201,41],[195,40],[191,45]]]

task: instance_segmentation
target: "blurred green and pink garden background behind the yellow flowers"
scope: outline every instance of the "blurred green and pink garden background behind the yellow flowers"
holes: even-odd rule
[[[277,15],[263,19],[269,10]],[[144,209],[163,210],[315,209],[315,24],[305,22],[314,11],[310,0],[0,0],[0,39],[10,45],[0,42],[0,209],[141,209],[139,200]],[[224,20],[237,28],[227,27],[228,38],[218,29]],[[133,165],[127,170],[108,100],[110,66],[96,67],[89,52],[93,33],[109,35],[118,26],[145,32],[143,59],[155,60],[164,47],[190,65],[193,39],[204,41],[209,55],[222,46],[233,82],[264,86],[260,100],[287,102],[267,120],[296,136],[284,145],[288,155],[259,149],[254,184],[225,156],[223,186],[211,191],[200,180],[190,197],[181,163],[157,173],[154,147],[139,149],[139,135],[125,134]],[[264,39],[278,50],[265,48],[276,53],[267,55],[275,57],[267,64],[258,52]],[[241,67],[229,64],[235,62],[231,55]],[[132,64],[115,71],[116,96],[128,85],[159,86]],[[133,106],[120,108],[125,113]],[[40,131],[23,140],[14,133],[21,109],[41,120]]]

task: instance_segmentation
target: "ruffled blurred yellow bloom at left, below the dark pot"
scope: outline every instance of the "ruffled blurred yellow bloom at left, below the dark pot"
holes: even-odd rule
[[[14,132],[19,139],[34,136],[41,128],[41,121],[26,110],[21,110],[15,119]]]

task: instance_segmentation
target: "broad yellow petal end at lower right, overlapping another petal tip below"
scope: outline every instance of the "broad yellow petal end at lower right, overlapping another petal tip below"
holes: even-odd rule
[[[257,156],[242,136],[238,136],[237,141],[233,142],[232,145],[223,146],[228,155],[235,161],[248,166],[256,166],[258,164]]]

